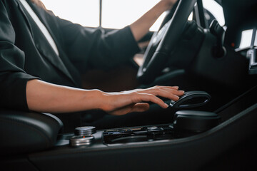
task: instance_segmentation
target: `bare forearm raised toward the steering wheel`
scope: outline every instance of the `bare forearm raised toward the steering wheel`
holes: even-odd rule
[[[173,2],[170,0],[159,1],[156,6],[153,6],[153,8],[146,12],[146,14],[143,14],[140,19],[131,24],[131,31],[136,41],[139,41],[141,38],[143,38],[143,36],[148,33],[149,28],[154,24],[158,17],[161,16],[164,11],[170,9],[171,6],[173,6]]]

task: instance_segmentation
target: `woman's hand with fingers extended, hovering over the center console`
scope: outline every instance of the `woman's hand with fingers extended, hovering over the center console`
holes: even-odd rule
[[[154,86],[147,89],[129,90],[120,93],[103,93],[101,98],[101,109],[111,115],[125,115],[131,112],[143,112],[148,110],[152,102],[160,105],[162,108],[168,108],[168,105],[157,96],[178,100],[183,95],[183,90],[178,87]]]

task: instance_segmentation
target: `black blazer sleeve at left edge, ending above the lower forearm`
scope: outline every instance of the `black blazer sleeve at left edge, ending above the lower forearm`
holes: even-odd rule
[[[24,52],[14,46],[15,32],[0,1],[0,107],[29,110],[26,83],[38,79],[24,71]]]

